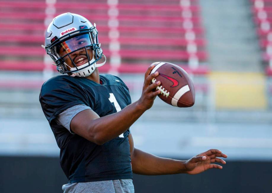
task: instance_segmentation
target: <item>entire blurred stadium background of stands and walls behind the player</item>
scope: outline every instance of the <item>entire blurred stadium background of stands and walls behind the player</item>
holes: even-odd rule
[[[159,98],[131,127],[135,147],[188,159],[210,148],[222,171],[134,176],[135,192],[272,192],[272,0],[0,0],[0,192],[62,192],[59,149],[39,104],[58,75],[44,31],[61,13],[97,24],[108,62],[132,101],[155,61],[193,78],[196,102]]]

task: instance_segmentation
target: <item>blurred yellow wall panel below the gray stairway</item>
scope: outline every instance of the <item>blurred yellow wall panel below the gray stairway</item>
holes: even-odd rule
[[[228,109],[265,109],[265,77],[261,73],[212,72],[215,106]]]

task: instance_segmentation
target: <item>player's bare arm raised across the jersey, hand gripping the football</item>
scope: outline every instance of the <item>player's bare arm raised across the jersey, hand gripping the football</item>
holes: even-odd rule
[[[145,72],[143,92],[139,100],[117,113],[99,117],[91,109],[81,111],[73,117],[70,123],[71,130],[85,139],[102,145],[105,142],[124,133],[146,110],[151,108],[155,97],[160,94],[155,88],[160,82],[150,84],[158,72],[151,73],[154,65]]]

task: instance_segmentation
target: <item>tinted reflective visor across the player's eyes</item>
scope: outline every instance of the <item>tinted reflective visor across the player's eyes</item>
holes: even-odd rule
[[[90,45],[92,45],[92,42],[89,33],[87,33],[58,43],[54,48],[57,55],[59,57],[63,57],[79,48],[84,48],[85,46]]]

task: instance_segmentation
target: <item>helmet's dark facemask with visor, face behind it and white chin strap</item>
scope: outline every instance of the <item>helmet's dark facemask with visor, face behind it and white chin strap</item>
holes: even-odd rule
[[[87,77],[95,71],[95,67],[106,62],[95,27],[77,30],[56,40],[53,38],[46,50],[60,74]],[[96,64],[102,57],[104,61]]]

